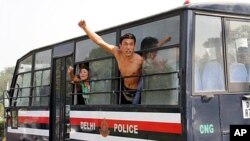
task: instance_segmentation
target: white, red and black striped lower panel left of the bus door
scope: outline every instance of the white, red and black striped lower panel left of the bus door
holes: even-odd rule
[[[8,120],[7,141],[49,140],[49,111],[19,110],[15,128],[11,127],[10,120]]]

